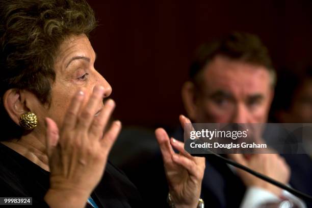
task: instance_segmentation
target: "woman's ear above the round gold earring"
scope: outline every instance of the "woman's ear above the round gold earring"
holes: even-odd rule
[[[10,118],[19,125],[20,116],[30,111],[25,102],[25,96],[18,89],[8,89],[3,96],[3,104]]]

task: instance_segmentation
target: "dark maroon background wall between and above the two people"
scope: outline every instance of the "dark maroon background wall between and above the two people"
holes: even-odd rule
[[[178,124],[180,87],[196,47],[229,31],[259,35],[276,68],[312,54],[312,1],[98,1],[91,35],[97,70],[124,125]]]

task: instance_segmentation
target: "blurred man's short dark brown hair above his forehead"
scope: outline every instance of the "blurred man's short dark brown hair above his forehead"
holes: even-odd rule
[[[189,76],[198,81],[198,74],[217,55],[240,60],[254,65],[265,66],[271,75],[272,87],[275,86],[276,72],[272,65],[268,49],[256,35],[232,32],[209,43],[200,45],[190,66]]]

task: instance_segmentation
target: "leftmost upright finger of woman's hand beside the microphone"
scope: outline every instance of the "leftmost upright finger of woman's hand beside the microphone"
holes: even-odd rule
[[[157,142],[160,146],[164,163],[168,163],[171,161],[171,155],[174,153],[167,132],[163,128],[158,128],[155,130],[155,136],[157,138]]]

